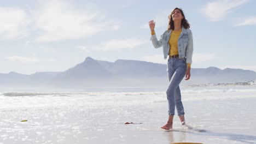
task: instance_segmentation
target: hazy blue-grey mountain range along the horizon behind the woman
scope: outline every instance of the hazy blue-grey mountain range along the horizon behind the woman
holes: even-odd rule
[[[87,57],[84,62],[66,71],[37,72],[31,75],[15,72],[0,74],[0,87],[166,87],[166,70],[166,64],[124,59],[107,62]],[[216,67],[191,68],[190,80],[183,80],[181,85],[250,80],[256,80],[255,71],[230,68],[222,70]]]

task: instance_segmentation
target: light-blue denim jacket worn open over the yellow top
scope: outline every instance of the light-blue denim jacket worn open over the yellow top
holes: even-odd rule
[[[152,35],[150,40],[152,40],[153,46],[157,49],[162,46],[162,50],[164,52],[164,58],[166,59],[169,51],[169,39],[171,37],[172,30],[165,31],[161,38],[158,40],[156,35]],[[179,58],[186,58],[187,63],[192,63],[192,55],[193,55],[193,36],[192,32],[189,28],[185,29],[182,27],[181,35],[179,35],[178,39],[178,53]]]

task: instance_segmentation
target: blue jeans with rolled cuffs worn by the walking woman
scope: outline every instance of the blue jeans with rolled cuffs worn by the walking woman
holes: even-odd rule
[[[181,101],[181,90],[179,83],[181,83],[187,70],[185,58],[170,58],[167,64],[167,73],[169,85],[166,91],[167,100],[169,105],[169,115],[174,115],[175,106],[178,116],[184,115],[184,108]]]

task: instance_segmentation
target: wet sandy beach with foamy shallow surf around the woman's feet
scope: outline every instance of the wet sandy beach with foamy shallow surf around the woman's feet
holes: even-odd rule
[[[0,143],[256,143],[256,87],[183,88],[182,95],[193,129],[176,115],[165,131],[163,91],[2,91]]]

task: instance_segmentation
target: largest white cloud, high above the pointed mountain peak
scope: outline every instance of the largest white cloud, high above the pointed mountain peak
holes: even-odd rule
[[[117,31],[120,26],[106,20],[102,11],[73,8],[68,1],[47,1],[35,9],[33,19],[42,31],[37,41],[78,39],[100,31]]]

